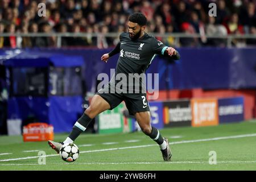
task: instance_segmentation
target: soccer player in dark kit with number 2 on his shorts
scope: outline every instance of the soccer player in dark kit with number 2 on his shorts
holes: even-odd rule
[[[119,36],[120,42],[113,51],[102,55],[101,60],[107,62],[109,57],[119,53],[115,76],[122,74],[129,77],[130,73],[137,73],[137,75],[145,73],[155,54],[163,55],[170,60],[180,59],[179,52],[174,48],[165,46],[162,42],[156,40],[154,36],[148,35],[145,32],[146,23],[147,19],[142,13],[132,14],[127,23],[129,31],[121,33]],[[125,101],[129,113],[135,115],[143,133],[159,144],[163,159],[166,161],[171,160],[172,153],[168,139],[163,138],[159,130],[150,125],[150,106],[146,98],[146,91],[142,86],[141,77],[135,77],[136,79],[139,81],[137,88],[134,87],[136,86],[133,85],[134,82],[131,84],[130,80],[127,79],[129,81],[122,82],[123,88],[126,87],[127,89],[117,89],[116,86],[119,82],[113,77],[108,85],[98,90],[93,96],[90,106],[85,110],[81,118],[77,120],[67,139],[64,142],[49,140],[49,146],[59,153],[61,146],[65,143],[73,143],[85,131],[90,121],[97,114],[108,109],[111,110],[122,101]],[[117,92],[120,90],[126,90],[127,92]]]

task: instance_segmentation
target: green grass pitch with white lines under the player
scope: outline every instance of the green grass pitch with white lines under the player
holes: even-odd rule
[[[80,156],[64,162],[47,142],[23,142],[21,136],[0,137],[0,170],[256,170],[256,121],[209,127],[160,130],[172,150],[163,162],[158,145],[142,132],[86,134],[76,140]],[[56,134],[61,141],[68,134]],[[39,151],[46,154],[39,158]],[[209,164],[210,151],[216,164]],[[42,156],[40,156],[42,157]],[[212,160],[210,160],[212,161]]]

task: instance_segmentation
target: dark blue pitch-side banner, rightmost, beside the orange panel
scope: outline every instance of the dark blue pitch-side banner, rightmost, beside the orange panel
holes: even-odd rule
[[[243,121],[243,97],[221,98],[218,100],[218,119],[220,123]]]

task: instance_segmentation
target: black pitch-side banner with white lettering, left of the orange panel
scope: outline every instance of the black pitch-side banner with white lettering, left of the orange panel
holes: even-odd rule
[[[165,127],[191,126],[191,106],[189,100],[163,102]]]

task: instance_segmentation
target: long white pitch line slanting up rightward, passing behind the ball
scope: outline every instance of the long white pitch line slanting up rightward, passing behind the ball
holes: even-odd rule
[[[213,140],[223,140],[223,139],[233,139],[233,138],[245,138],[245,137],[256,137],[256,133],[254,134],[245,134],[245,135],[234,135],[234,136],[226,136],[226,137],[215,137],[215,138],[206,138],[206,139],[196,139],[196,140],[181,140],[179,142],[170,142],[170,144],[181,144],[181,143],[195,143],[195,142],[207,142],[207,141],[213,141]],[[119,148],[106,148],[101,150],[90,150],[90,151],[81,151],[80,153],[88,153],[88,152],[102,152],[102,151],[112,151],[112,150],[122,150],[122,149],[130,149],[130,148],[142,148],[142,147],[152,147],[156,146],[156,144],[146,144],[143,146],[129,146],[129,147],[119,147]],[[45,157],[48,156],[56,156],[55,155],[45,155]],[[15,158],[15,159],[4,159],[0,160],[0,162],[7,162],[11,160],[22,160],[22,159],[35,159],[43,156],[30,156],[26,158]]]

